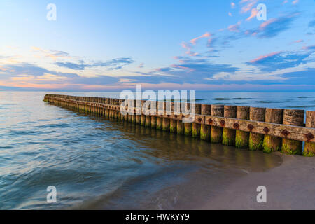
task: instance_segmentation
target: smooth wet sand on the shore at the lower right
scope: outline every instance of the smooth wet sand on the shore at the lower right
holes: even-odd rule
[[[237,179],[196,209],[315,209],[315,158],[276,154],[282,165]],[[258,186],[267,188],[266,203],[256,200]]]

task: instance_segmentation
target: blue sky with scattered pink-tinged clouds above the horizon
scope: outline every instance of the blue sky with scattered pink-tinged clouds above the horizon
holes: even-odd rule
[[[315,90],[315,0],[1,0],[0,30],[0,90]]]

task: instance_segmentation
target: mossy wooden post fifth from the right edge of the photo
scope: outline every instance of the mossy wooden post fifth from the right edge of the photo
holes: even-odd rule
[[[249,107],[237,106],[237,118],[243,120],[249,120]],[[235,134],[235,147],[248,148],[249,132],[236,130]]]

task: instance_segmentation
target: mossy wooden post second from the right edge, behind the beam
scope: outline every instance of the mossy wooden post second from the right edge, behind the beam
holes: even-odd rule
[[[283,111],[283,125],[304,126],[304,110],[288,110]],[[281,152],[291,155],[302,155],[302,141],[286,139],[288,134],[287,130],[283,130],[283,139]]]

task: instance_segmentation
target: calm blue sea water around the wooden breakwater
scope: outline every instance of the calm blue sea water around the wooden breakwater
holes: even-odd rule
[[[0,209],[194,209],[235,179],[281,164],[277,155],[62,109],[44,103],[45,93],[0,92]],[[315,109],[314,92],[197,92],[197,98]],[[57,188],[57,203],[46,202],[48,186]]]

